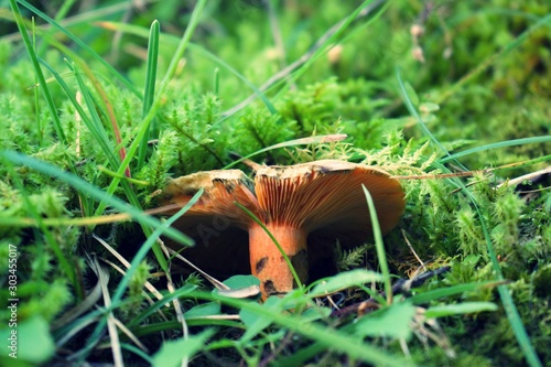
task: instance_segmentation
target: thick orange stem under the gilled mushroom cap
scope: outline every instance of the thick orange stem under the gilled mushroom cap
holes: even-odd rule
[[[291,260],[300,281],[305,282],[309,273],[306,230],[278,224],[268,224],[266,227]],[[262,298],[284,294],[298,287],[284,257],[266,230],[257,224],[249,228],[249,252],[250,269],[260,279]]]

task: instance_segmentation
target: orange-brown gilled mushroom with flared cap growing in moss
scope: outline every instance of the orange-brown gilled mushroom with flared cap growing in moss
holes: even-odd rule
[[[242,246],[239,251],[237,245],[231,244],[231,235],[226,236],[226,231],[229,235],[238,229],[248,234],[250,271],[260,279],[266,299],[284,294],[296,284],[270,236],[236,203],[266,226],[291,260],[300,281],[306,282],[309,248],[314,252],[312,258],[323,257],[315,253],[323,247],[316,248],[318,238],[335,244],[335,239],[358,242],[372,236],[361,184],[374,198],[382,234],[389,233],[406,205],[400,183],[378,168],[344,161],[260,166],[253,182],[239,170],[197,172],[172,180],[163,193],[164,204],[182,207],[204,188],[199,201],[174,226],[203,240],[205,246],[199,257],[208,257],[213,268],[235,260],[233,257],[220,260],[216,253],[208,253],[215,241],[218,246],[231,247],[231,252],[239,258],[246,252]],[[314,244],[310,246],[309,241]]]

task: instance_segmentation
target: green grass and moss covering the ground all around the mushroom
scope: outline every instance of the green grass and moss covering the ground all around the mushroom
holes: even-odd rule
[[[2,364],[549,365],[551,7],[283,3],[0,8]],[[385,238],[336,246],[341,273],[260,303],[159,241],[194,244],[171,227],[193,203],[147,212],[246,159],[431,179],[401,180]]]

